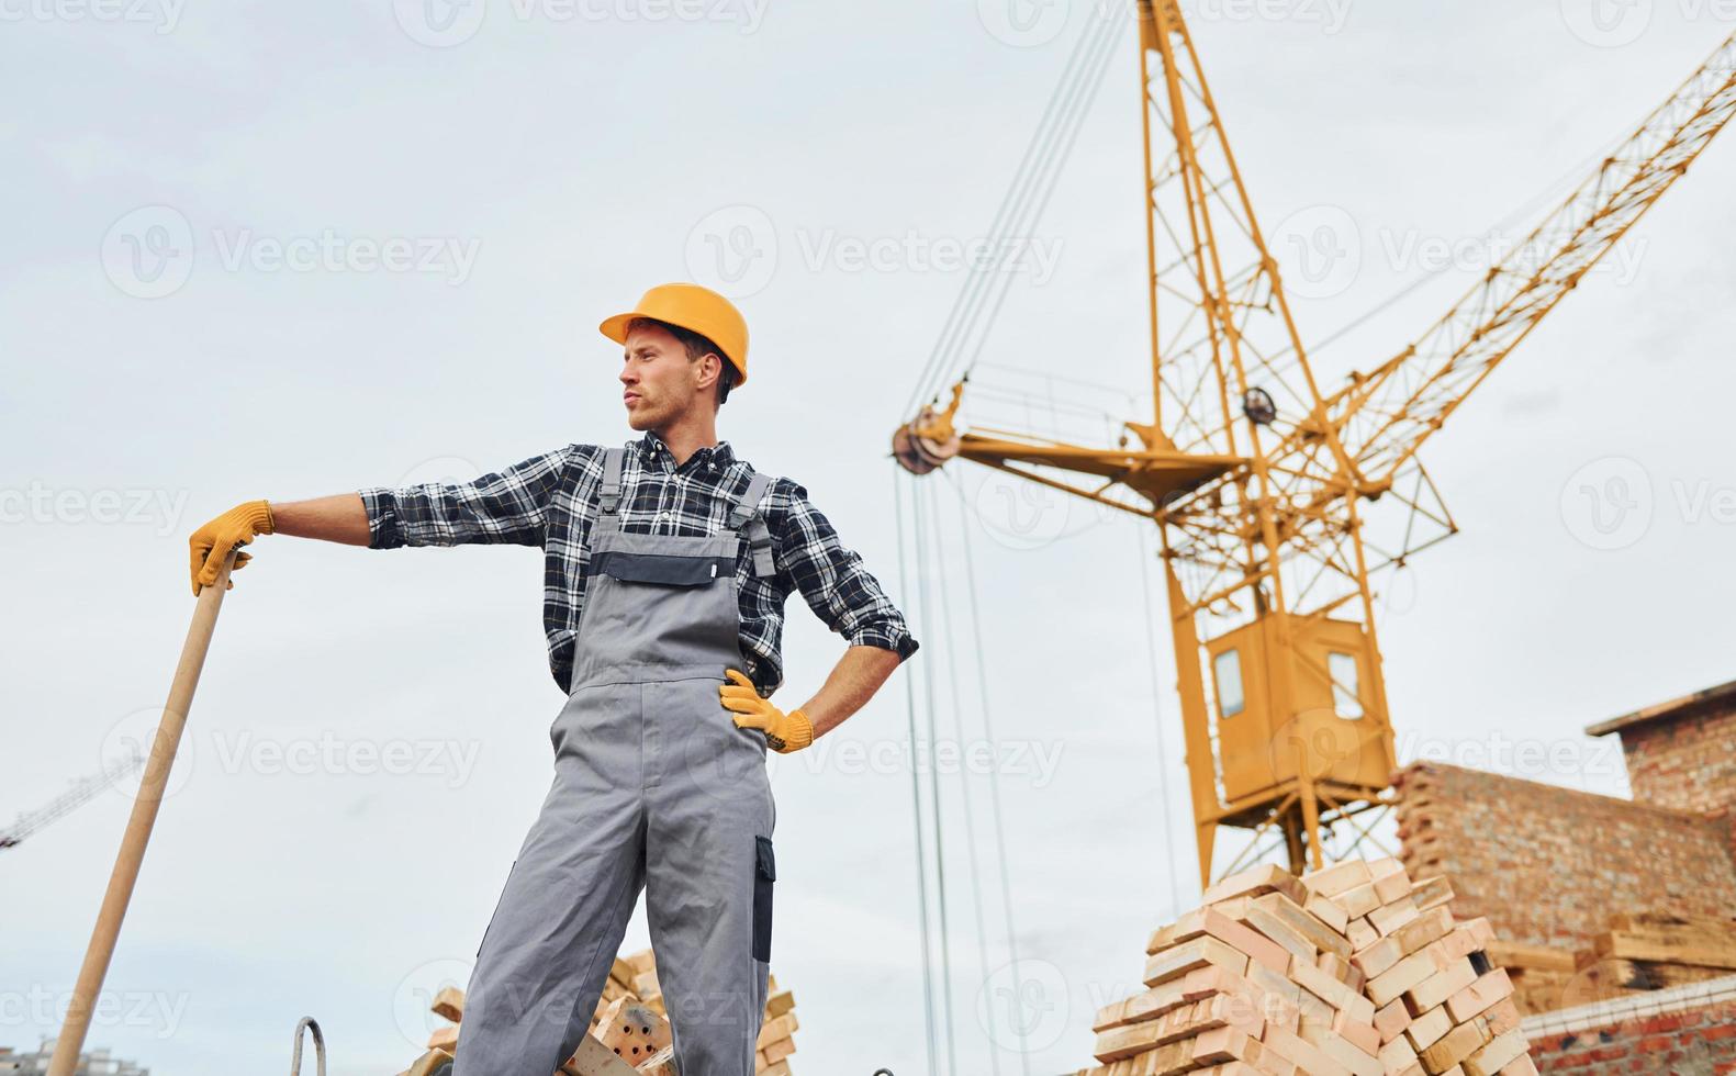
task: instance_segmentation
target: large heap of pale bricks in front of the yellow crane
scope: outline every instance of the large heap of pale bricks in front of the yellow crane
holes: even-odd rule
[[[1099,1010],[1080,1076],[1531,1076],[1486,920],[1397,859],[1208,889],[1146,946],[1144,993]]]

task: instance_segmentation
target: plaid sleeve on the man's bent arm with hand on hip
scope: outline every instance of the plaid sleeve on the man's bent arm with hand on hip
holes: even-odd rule
[[[778,571],[802,594],[807,607],[851,646],[917,653],[917,639],[861,555],[847,548],[832,521],[807,500],[807,489],[783,479],[788,510],[776,521],[773,548]]]

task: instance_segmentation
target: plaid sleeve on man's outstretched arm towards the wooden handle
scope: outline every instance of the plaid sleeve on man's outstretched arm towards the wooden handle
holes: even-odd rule
[[[568,448],[542,453],[469,482],[359,489],[368,547],[542,545],[568,455]]]

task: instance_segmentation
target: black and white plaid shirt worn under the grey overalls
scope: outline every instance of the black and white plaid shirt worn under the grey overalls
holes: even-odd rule
[[[569,691],[602,453],[597,444],[568,444],[470,482],[361,489],[368,545],[542,547],[549,668],[561,691]],[[727,441],[700,448],[677,467],[663,439],[646,432],[627,443],[621,462],[621,529],[715,535],[727,515],[722,493],[745,493],[748,472],[750,465],[736,458]],[[776,574],[753,576],[750,559],[741,557],[736,580],[741,583],[743,672],[762,696],[783,684],[783,606],[792,590],[854,646],[894,651],[899,661],[917,651],[904,616],[861,557],[838,541],[832,522],[807,500],[807,489],[785,477],[773,479],[759,507],[771,531]]]

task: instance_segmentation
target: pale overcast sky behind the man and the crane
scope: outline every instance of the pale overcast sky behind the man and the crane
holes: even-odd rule
[[[941,765],[957,1073],[1088,1064],[1092,1012],[1196,892],[1151,536],[1038,496],[1033,538],[981,469],[894,484],[885,455],[963,281],[948,253],[988,233],[1085,2],[431,3],[0,0],[0,819],[153,727],[200,522],[625,441],[595,323],[651,283],[724,283],[753,351],[720,436],[804,482],[913,616],[930,595],[911,665],[774,760],[793,1066],[927,1071],[906,698],[930,692],[941,738],[998,767],[1005,831],[1002,861],[988,776]],[[1352,262],[1297,297],[1307,338],[1451,253],[1319,368],[1443,312],[1736,28],[1726,7],[1187,0],[1269,231],[1349,220]],[[1141,389],[1137,108],[1128,30],[993,361]],[[1404,758],[1620,793],[1583,725],[1736,675],[1731,189],[1726,137],[1429,446],[1463,533],[1384,590]],[[1614,538],[1585,502],[1611,481],[1635,512]],[[894,489],[906,531],[920,489],[944,535],[925,580]],[[333,1074],[396,1073],[547,788],[540,555],[255,554],[89,1041],[158,1076],[281,1071],[314,1015]],[[793,600],[776,701],[840,651]],[[127,809],[104,793],[0,852],[0,1045],[54,1033]]]

